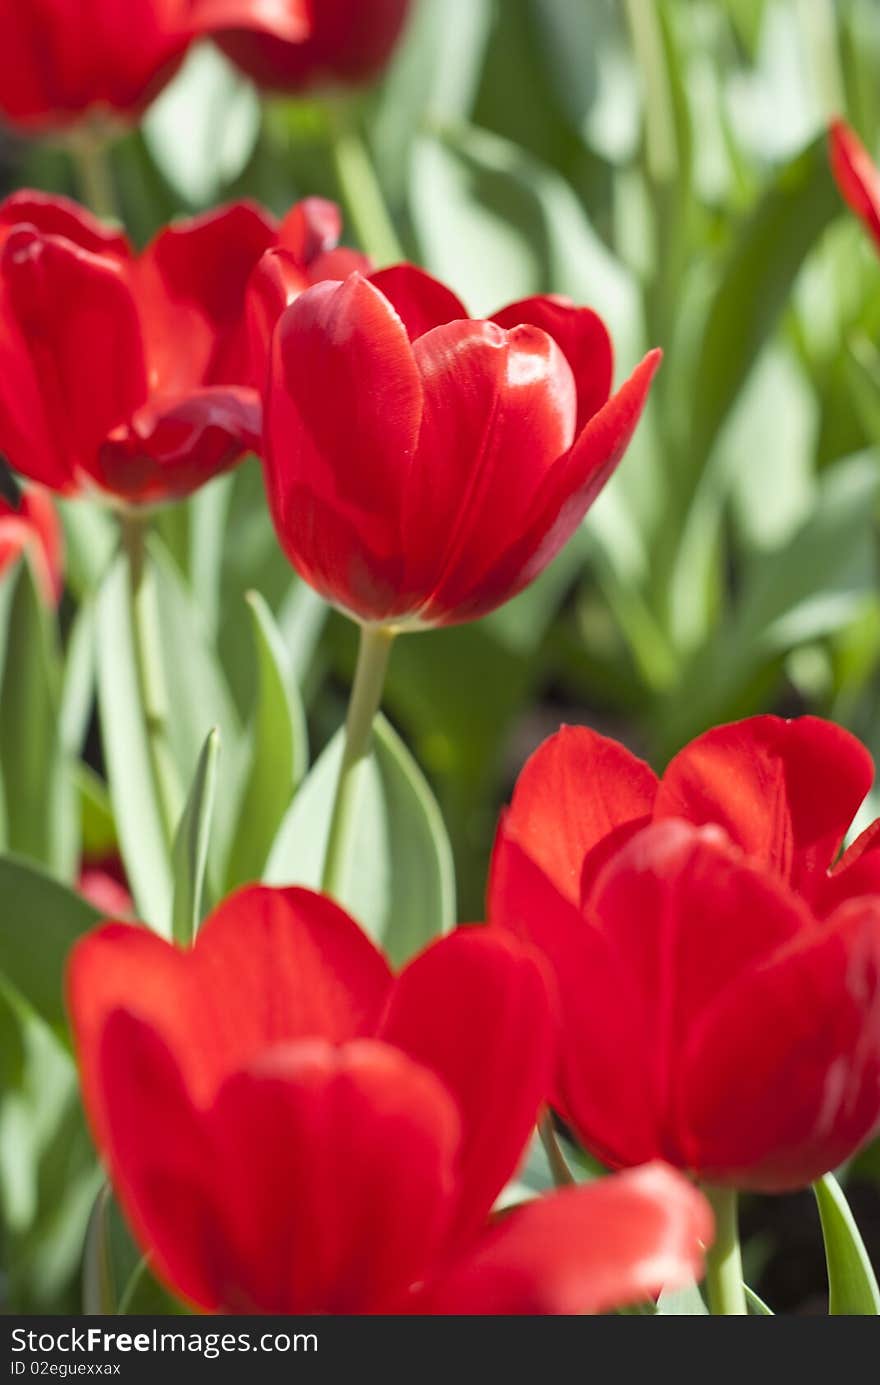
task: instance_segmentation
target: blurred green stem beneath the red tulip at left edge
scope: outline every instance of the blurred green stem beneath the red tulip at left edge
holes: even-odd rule
[[[157,594],[147,562],[147,522],[139,515],[126,514],[121,526],[122,547],[129,562],[134,674],[162,831],[170,849],[183,812],[183,792],[168,741],[168,694],[162,679]]]

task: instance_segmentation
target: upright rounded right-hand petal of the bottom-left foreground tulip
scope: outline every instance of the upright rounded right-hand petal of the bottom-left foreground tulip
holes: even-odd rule
[[[452,1022],[453,1015],[463,1022]],[[473,1233],[513,1174],[547,1096],[554,1032],[543,972],[503,933],[460,928],[401,974],[380,1033],[457,1098],[463,1148],[455,1234]]]

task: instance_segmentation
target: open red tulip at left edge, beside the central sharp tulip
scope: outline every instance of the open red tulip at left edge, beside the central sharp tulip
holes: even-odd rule
[[[326,204],[320,204],[324,205]],[[244,323],[263,252],[317,251],[309,204],[175,223],[134,255],[65,198],[0,206],[0,450],[53,490],[130,503],[188,494],[261,436]]]

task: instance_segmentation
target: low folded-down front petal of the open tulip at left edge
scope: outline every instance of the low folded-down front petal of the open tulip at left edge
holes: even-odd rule
[[[175,500],[259,447],[261,425],[254,389],[220,385],[173,402],[157,396],[108,438],[91,475],[133,504]]]

